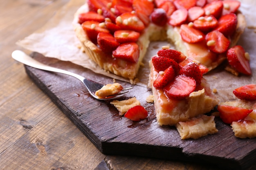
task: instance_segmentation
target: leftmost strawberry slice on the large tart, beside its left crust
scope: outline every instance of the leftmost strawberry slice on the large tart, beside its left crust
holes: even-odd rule
[[[99,15],[98,13],[92,12],[92,11],[80,13],[78,18],[79,18],[79,22],[78,22],[79,24],[82,24],[83,22],[90,21],[90,20],[97,21],[97,22],[105,21],[105,18],[102,15]]]

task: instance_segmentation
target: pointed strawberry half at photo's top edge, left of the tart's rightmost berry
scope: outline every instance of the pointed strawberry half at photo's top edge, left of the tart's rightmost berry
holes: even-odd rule
[[[204,6],[204,11],[206,15],[213,15],[215,18],[220,18],[222,14],[223,3],[222,1],[213,1]]]

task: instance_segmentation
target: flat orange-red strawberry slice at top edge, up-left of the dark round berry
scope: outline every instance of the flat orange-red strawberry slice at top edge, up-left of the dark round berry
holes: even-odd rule
[[[143,11],[148,17],[154,11],[154,3],[149,0],[133,0],[132,7],[135,12]]]

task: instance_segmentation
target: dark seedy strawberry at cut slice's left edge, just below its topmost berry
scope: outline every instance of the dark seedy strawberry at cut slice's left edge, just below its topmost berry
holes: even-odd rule
[[[169,66],[173,66],[175,73],[178,73],[180,71],[180,65],[171,58],[153,56],[152,63],[157,72],[164,71]]]

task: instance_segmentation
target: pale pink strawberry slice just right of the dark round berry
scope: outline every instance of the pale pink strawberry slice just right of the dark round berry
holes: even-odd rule
[[[188,17],[188,11],[186,9],[184,8],[177,9],[170,16],[168,23],[172,26],[180,26],[181,24],[186,22],[187,17]]]

